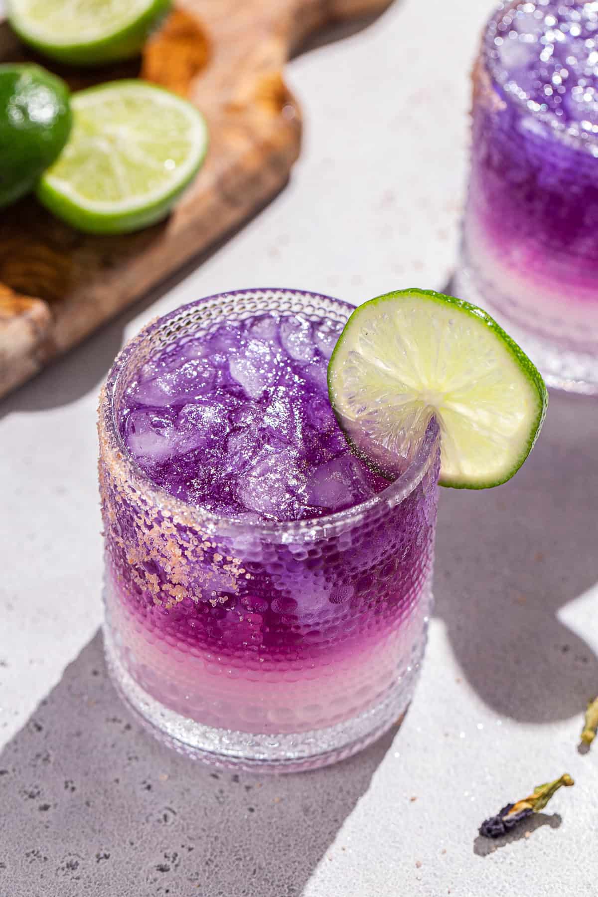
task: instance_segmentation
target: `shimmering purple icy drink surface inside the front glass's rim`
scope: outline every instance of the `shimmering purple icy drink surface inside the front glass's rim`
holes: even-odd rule
[[[182,501],[247,521],[317,518],[371,498],[388,483],[351,454],[328,401],[341,330],[274,313],[176,344],[127,390],[129,453]]]

